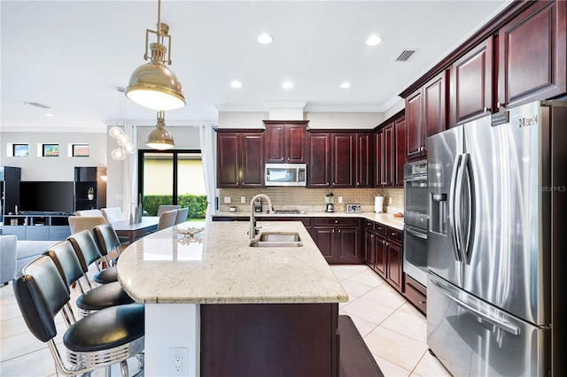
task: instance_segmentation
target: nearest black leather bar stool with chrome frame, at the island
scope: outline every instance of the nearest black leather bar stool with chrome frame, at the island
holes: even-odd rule
[[[13,281],[14,295],[29,331],[47,342],[58,371],[80,375],[120,363],[122,376],[128,376],[128,358],[138,358],[144,373],[144,305],[118,305],[72,320],[66,314],[70,296],[57,266],[47,256],[35,259]],[[63,335],[67,362],[63,361],[54,338],[55,316],[63,312],[70,323]],[[71,316],[72,318],[72,316]]]

